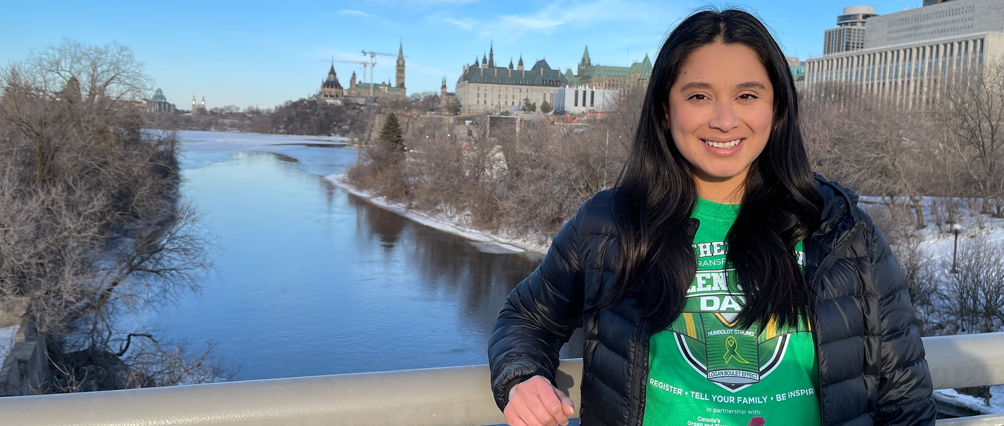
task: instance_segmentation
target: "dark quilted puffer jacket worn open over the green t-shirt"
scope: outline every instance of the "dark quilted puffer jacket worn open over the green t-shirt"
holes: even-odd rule
[[[823,426],[933,425],[924,345],[903,273],[857,195],[818,175],[820,229],[805,241],[817,289],[813,331]],[[512,291],[488,348],[499,408],[534,375],[554,382],[558,350],[585,327],[581,424],[641,426],[650,330],[630,302],[588,318],[617,259],[611,190],[586,200],[554,237],[540,266]]]

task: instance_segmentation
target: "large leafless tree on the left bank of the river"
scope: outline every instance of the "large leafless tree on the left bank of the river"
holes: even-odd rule
[[[115,310],[171,302],[212,266],[177,138],[143,129],[148,82],[127,47],[71,41],[0,77],[0,298],[29,301],[53,360],[119,358]]]

